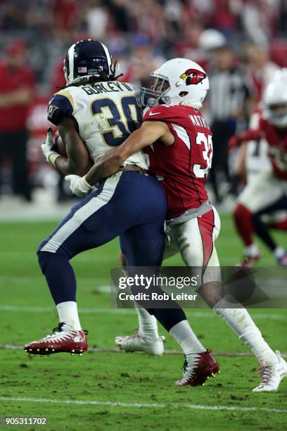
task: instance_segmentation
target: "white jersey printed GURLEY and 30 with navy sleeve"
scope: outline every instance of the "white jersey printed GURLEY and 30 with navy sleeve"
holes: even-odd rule
[[[95,163],[139,127],[141,109],[133,85],[116,81],[97,82],[67,87],[53,94],[49,101],[48,119],[58,125],[64,117],[75,119],[79,136],[86,142]],[[146,158],[146,154],[139,151],[124,165],[131,163],[148,169]]]

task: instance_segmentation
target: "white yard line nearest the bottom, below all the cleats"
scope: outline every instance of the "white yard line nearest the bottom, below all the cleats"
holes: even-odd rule
[[[30,403],[52,403],[52,404],[77,404],[91,406],[109,407],[148,407],[148,408],[190,408],[191,410],[213,410],[213,411],[266,411],[269,413],[287,413],[287,408],[267,408],[267,407],[237,407],[237,406],[202,406],[200,404],[158,404],[158,403],[122,403],[120,401],[97,401],[93,399],[47,399],[47,398],[26,398],[17,396],[1,396],[0,401],[20,401]]]

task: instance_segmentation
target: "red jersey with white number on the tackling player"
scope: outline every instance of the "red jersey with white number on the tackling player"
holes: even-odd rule
[[[170,146],[158,141],[145,149],[167,194],[167,220],[208,201],[212,132],[201,113],[191,106],[158,105],[146,111],[143,121],[162,121],[174,135]]]

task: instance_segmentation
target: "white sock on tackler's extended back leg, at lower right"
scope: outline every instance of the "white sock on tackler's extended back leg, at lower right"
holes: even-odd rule
[[[230,304],[225,299],[221,299],[214,307],[213,311],[229,324],[236,332],[239,339],[250,347],[258,361],[263,363],[277,363],[278,358],[274,351],[264,341],[260,330],[248,311],[243,308],[227,308]]]

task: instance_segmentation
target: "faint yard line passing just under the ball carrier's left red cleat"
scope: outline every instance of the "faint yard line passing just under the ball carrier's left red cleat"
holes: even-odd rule
[[[23,346],[18,346],[16,344],[0,344],[0,350],[23,350]],[[95,353],[115,353],[115,354],[125,354],[126,352],[124,350],[120,349],[100,349],[99,347],[89,347],[89,351],[95,352]],[[134,351],[134,354],[144,355],[141,351]],[[170,350],[165,349],[166,355],[183,355],[181,350]],[[239,358],[253,358],[254,355],[248,352],[241,352],[241,351],[212,351],[212,354],[214,356],[228,356],[228,357],[239,357]],[[281,353],[281,356],[283,358],[287,358],[286,353]]]

